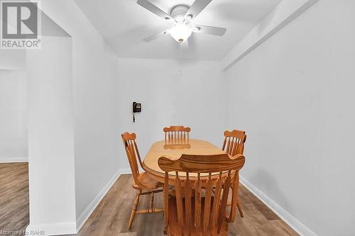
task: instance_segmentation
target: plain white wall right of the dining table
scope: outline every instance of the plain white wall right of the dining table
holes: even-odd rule
[[[241,175],[317,235],[355,235],[354,11],[319,1],[226,72]]]

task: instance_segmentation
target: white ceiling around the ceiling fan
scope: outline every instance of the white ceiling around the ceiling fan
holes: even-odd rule
[[[163,11],[194,0],[150,0]],[[136,4],[136,0],[75,0],[118,57],[221,60],[280,0],[214,0],[195,23],[227,28],[222,37],[193,34],[190,48],[179,53],[170,35],[150,43],[143,38],[171,28],[172,24]]]

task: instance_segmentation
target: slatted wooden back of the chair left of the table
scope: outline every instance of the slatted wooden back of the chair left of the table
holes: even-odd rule
[[[124,142],[124,149],[126,150],[127,157],[129,159],[129,166],[131,167],[133,179],[138,183],[139,168],[137,163],[137,157],[139,164],[143,168],[141,161],[141,155],[139,154],[138,147],[136,144],[136,134],[135,133],[123,133],[121,134],[122,140]]]

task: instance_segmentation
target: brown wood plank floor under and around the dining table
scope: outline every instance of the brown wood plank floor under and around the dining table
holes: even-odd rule
[[[130,174],[121,175],[77,235],[164,235],[163,213],[137,214],[131,230],[128,230],[129,214],[136,196],[131,181]],[[229,224],[229,235],[298,235],[242,185],[239,198],[243,206],[244,218],[237,215],[236,221]],[[163,193],[155,194],[154,203],[155,206],[163,207]],[[138,209],[148,208],[148,206],[149,196],[141,196]]]

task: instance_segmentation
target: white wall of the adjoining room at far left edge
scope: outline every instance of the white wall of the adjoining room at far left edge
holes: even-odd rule
[[[28,159],[27,118],[26,70],[0,70],[0,162]]]

